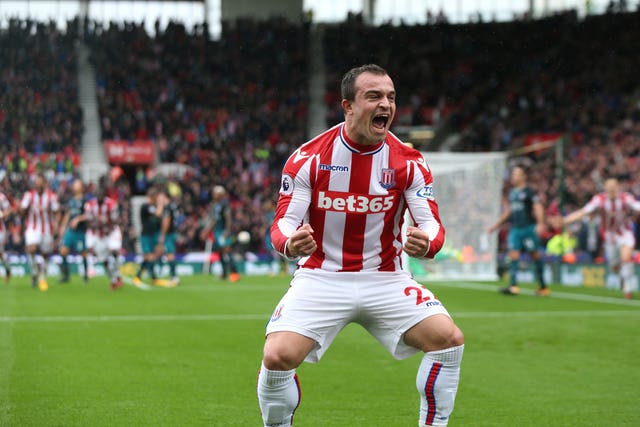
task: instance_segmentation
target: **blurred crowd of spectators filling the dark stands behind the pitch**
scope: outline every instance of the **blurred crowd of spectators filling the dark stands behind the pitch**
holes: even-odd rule
[[[511,160],[533,166],[530,182],[547,207],[550,238],[561,210],[581,206],[607,177],[640,195],[640,14],[627,10],[378,27],[352,15],[325,25],[328,124],[343,120],[342,74],[375,62],[396,84],[395,124],[434,126],[451,150],[516,150],[530,135],[564,136],[562,194],[555,150]],[[313,136],[306,131],[310,25],[244,19],[224,23],[218,40],[205,25],[187,30],[175,22],[156,24],[155,34],[141,23],[88,21],[83,28],[103,139],[151,140],[159,162],[189,166],[184,175],[162,177],[182,207],[179,251],[202,250],[211,190],[222,185],[234,232],[252,235],[243,249],[265,252],[281,167]],[[76,24],[70,28],[14,20],[0,31],[0,173],[3,191],[14,196],[27,176],[44,170],[64,198],[78,172],[78,32]],[[129,198],[158,176],[152,167],[140,167],[133,180],[126,176],[111,192],[121,202],[125,247],[132,250]]]

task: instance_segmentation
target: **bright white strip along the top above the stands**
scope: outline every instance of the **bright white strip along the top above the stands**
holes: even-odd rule
[[[11,17],[52,19],[65,26],[80,10],[87,10],[91,19],[99,21],[145,20],[151,31],[156,19],[162,24],[179,20],[192,26],[206,17],[215,35],[225,13],[234,8],[282,11],[293,6],[297,11],[291,11],[291,16],[299,17],[298,11],[312,11],[314,22],[343,21],[350,12],[364,11],[371,22],[378,25],[425,23],[427,10],[436,14],[442,10],[448,20],[455,23],[477,20],[479,14],[484,20],[504,21],[531,11],[533,16],[565,9],[576,9],[581,15],[602,13],[608,3],[609,0],[2,0],[0,26]]]

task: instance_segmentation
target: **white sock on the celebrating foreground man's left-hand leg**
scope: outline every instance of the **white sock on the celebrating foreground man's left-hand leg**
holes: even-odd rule
[[[271,371],[260,367],[258,401],[265,426],[289,427],[300,403],[300,384],[296,370]]]

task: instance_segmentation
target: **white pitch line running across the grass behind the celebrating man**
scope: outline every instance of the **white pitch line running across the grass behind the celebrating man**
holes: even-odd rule
[[[585,311],[479,311],[453,312],[455,318],[496,317],[619,317],[638,316],[640,310],[585,310]],[[110,316],[3,316],[1,323],[108,323],[108,322],[179,322],[179,321],[239,321],[269,319],[270,314],[163,314],[163,315],[110,315]]]

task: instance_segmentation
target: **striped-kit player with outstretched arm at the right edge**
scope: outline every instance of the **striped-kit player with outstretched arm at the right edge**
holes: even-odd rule
[[[636,240],[628,215],[640,212],[640,201],[631,193],[622,191],[617,179],[609,178],[604,183],[604,191],[593,196],[581,209],[567,215],[563,224],[571,224],[596,211],[601,216],[600,236],[604,241],[607,264],[611,272],[620,274],[624,297],[631,299],[632,291],[637,290],[638,278],[632,259]]]

